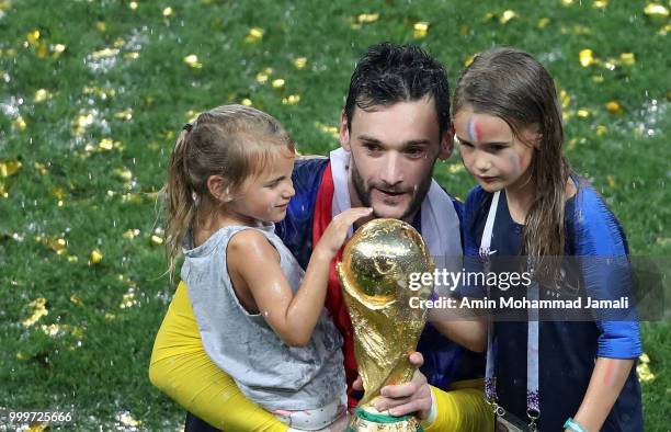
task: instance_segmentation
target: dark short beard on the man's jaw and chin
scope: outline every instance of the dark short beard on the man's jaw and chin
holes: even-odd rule
[[[356,161],[354,160],[354,155],[350,154],[350,169],[352,170],[352,185],[354,186],[354,191],[356,192],[356,196],[359,201],[364,207],[373,207],[371,205],[371,191],[373,189],[382,189],[388,192],[396,193],[411,193],[410,204],[408,204],[408,208],[402,213],[398,219],[406,220],[411,223],[411,218],[414,217],[414,214],[420,209],[422,205],[422,201],[427,196],[427,192],[429,192],[429,187],[431,186],[431,180],[433,179],[433,167],[431,166],[431,172],[429,175],[422,179],[419,185],[413,187],[412,190],[403,190],[399,186],[390,185],[386,182],[369,182],[366,184],[364,179],[361,177],[359,169],[356,168]],[[375,207],[373,207],[373,216],[376,218],[383,217],[380,216]]]

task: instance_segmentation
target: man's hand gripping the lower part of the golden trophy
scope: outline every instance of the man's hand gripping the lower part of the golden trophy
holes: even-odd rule
[[[424,357],[419,352],[413,352],[410,354],[410,363],[417,367],[412,380],[383,387],[382,396],[375,399],[373,406],[380,412],[389,410],[391,416],[417,413],[420,419],[425,419],[431,411],[432,398],[427,377],[419,372],[420,366],[424,364]],[[356,378],[353,386],[357,390],[363,389],[361,377]]]

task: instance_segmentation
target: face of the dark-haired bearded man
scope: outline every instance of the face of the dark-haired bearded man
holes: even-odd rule
[[[349,189],[352,206],[371,206],[375,217],[411,221],[431,185],[437,157],[452,152],[451,132],[439,138],[433,100],[355,109],[352,127],[344,115],[340,144],[351,152]]]

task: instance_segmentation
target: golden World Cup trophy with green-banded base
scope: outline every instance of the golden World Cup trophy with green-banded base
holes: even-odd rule
[[[338,275],[352,326],[354,354],[364,386],[348,432],[420,429],[414,416],[379,412],[373,401],[386,385],[408,383],[414,367],[409,354],[417,349],[427,321],[433,284],[412,274],[433,273],[434,264],[420,234],[398,219],[374,219],[356,230],[344,248]],[[414,297],[414,299],[413,299]]]

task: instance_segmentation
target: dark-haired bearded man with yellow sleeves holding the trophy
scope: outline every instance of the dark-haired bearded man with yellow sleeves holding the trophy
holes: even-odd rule
[[[412,224],[433,257],[462,255],[462,204],[432,179],[435,161],[448,158],[453,148],[447,86],[440,62],[417,46],[384,43],[368,49],[350,82],[340,122],[341,148],[329,158],[296,160],[292,175],[296,195],[286,218],[275,226],[304,268],[332,217],[361,206],[373,207],[371,218]],[[353,389],[357,376],[353,329],[334,269],[338,260],[340,254],[332,263],[326,307],[344,339],[349,403],[354,407],[361,394]],[[468,340],[459,342],[481,349]],[[448,412],[450,422],[431,424],[432,412],[421,412],[429,417],[429,430],[492,429],[491,410],[477,388],[481,380],[474,380],[482,376],[482,357],[431,325],[418,351],[423,357],[413,354],[411,361],[422,366],[423,375],[416,374],[410,384],[390,386],[388,395],[394,398],[383,399],[384,407],[394,407],[391,414],[401,416],[431,399],[432,412],[440,405],[441,417]],[[186,430],[286,430],[244,399],[231,378],[209,361],[183,283],[157,336],[149,375],[153,385],[193,413]]]

